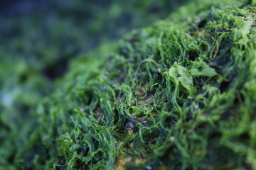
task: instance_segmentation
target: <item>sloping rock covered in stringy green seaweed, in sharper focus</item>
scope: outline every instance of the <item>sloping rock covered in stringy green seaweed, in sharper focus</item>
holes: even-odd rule
[[[73,62],[41,106],[44,143],[63,134],[55,166],[255,169],[255,10],[164,21]]]

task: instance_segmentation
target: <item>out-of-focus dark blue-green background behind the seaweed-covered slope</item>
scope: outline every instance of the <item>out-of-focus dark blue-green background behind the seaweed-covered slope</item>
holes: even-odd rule
[[[0,165],[17,167],[36,106],[68,62],[169,16],[182,0],[9,0],[0,3]],[[32,158],[31,158],[32,159]],[[22,163],[23,164],[23,163]],[[25,162],[26,166],[32,164]]]

